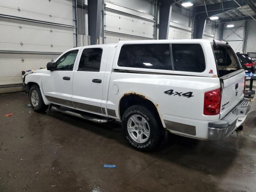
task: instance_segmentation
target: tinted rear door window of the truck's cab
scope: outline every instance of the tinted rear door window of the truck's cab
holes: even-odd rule
[[[100,71],[102,48],[84,49],[80,58],[78,71]]]

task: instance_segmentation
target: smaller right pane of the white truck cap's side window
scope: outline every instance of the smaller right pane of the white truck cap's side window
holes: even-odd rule
[[[200,44],[172,44],[174,70],[203,72],[206,68]]]

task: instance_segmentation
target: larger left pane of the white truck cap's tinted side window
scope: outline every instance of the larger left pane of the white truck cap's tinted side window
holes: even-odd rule
[[[118,66],[171,70],[170,44],[125,44]]]

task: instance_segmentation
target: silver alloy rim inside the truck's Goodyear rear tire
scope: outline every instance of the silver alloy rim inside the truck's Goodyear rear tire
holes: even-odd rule
[[[144,143],[150,136],[150,127],[147,120],[140,115],[132,115],[127,122],[127,130],[132,138],[137,143]]]

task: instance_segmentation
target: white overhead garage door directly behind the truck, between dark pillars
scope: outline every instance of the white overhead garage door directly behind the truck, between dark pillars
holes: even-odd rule
[[[154,3],[148,0],[104,1],[103,43],[154,39]]]

